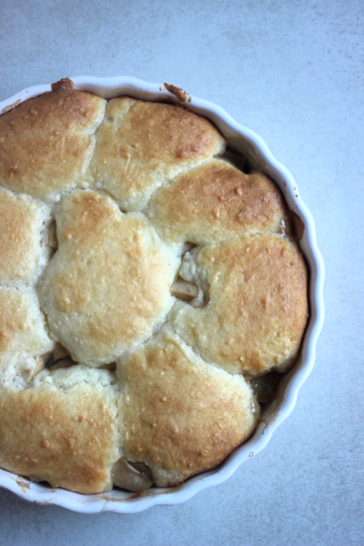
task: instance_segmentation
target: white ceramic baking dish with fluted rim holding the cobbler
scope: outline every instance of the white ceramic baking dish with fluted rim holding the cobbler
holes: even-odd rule
[[[128,95],[145,100],[172,100],[178,97],[167,91],[162,84],[150,84],[135,78],[116,76],[115,78],[93,78],[77,76],[71,78],[75,87],[90,91],[104,98]],[[13,108],[23,100],[36,97],[50,91],[50,85],[29,87],[13,97],[0,103],[0,115]],[[177,93],[178,94],[178,93]],[[181,98],[181,97],[180,97]],[[294,369],[287,372],[279,385],[276,399],[265,408],[262,420],[254,435],[217,468],[188,479],[182,485],[145,491],[132,494],[121,490],[112,490],[99,495],[81,495],[64,489],[52,489],[38,483],[31,483],[23,477],[15,476],[0,469],[0,486],[28,501],[42,505],[57,505],[80,513],[97,513],[102,511],[135,513],[154,505],[175,505],[188,500],[202,489],[212,487],[228,479],[242,462],[253,457],[266,446],[273,431],[293,411],[297,394],[303,382],[312,370],[315,359],[315,348],[318,335],[324,322],[324,262],[317,247],[315,227],[311,213],[303,203],[296,182],[289,171],[279,163],[268,150],[260,136],[247,127],[243,127],[229,114],[208,100],[196,97],[187,98],[187,107],[210,119],[229,140],[231,147],[246,156],[252,165],[265,171],[281,188],[289,208],[294,211],[305,226],[300,246],[309,268],[309,322],[303,338],[300,357]]]

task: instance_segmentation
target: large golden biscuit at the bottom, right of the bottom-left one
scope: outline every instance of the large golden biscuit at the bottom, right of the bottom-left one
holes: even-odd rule
[[[123,454],[164,487],[217,466],[259,416],[248,384],[206,364],[168,328],[118,361]]]

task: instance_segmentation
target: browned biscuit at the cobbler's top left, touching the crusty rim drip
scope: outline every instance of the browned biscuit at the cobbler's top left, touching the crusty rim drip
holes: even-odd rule
[[[0,184],[46,201],[84,187],[105,106],[65,79],[0,116]]]

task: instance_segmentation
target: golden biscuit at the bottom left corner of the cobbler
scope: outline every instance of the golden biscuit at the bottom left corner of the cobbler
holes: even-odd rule
[[[44,372],[30,389],[0,392],[0,466],[71,491],[108,491],[120,456],[112,373],[78,367],[73,381],[69,370]]]

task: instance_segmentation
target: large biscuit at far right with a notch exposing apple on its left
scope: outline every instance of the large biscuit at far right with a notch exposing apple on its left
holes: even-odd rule
[[[196,247],[180,275],[210,298],[204,308],[181,302],[172,316],[203,358],[252,375],[292,364],[308,317],[306,264],[294,242],[272,233]]]

